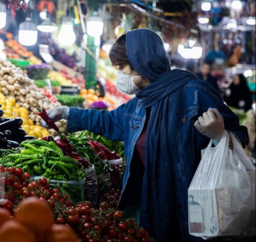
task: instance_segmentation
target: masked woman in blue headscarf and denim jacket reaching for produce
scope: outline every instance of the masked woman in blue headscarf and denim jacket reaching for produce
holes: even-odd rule
[[[134,97],[110,111],[55,107],[47,110],[49,117],[67,119],[67,132],[89,130],[124,141],[117,209],[136,218],[155,241],[204,241],[189,234],[187,212],[201,150],[210,139],[217,145],[225,130],[248,144],[246,127],[213,86],[190,71],[171,70],[163,40],[151,29],[121,35],[109,57],[118,68],[116,88]]]

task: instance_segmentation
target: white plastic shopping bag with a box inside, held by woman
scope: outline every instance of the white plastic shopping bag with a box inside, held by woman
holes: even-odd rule
[[[254,237],[255,167],[232,133],[211,145],[189,186],[189,233],[204,239]]]

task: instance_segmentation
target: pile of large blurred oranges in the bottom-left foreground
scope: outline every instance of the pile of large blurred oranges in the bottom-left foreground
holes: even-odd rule
[[[14,210],[0,208],[1,242],[77,242],[70,226],[54,223],[49,205],[31,196],[22,199]]]

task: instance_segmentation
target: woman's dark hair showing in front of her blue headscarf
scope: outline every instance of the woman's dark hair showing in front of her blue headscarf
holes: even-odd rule
[[[114,41],[108,56],[114,67],[122,69],[125,65],[130,65],[131,70],[134,70],[134,67],[126,54],[126,34],[121,35],[116,41]]]

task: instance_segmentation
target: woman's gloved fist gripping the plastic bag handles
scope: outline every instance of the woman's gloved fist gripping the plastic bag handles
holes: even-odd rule
[[[208,109],[202,116],[199,116],[195,122],[196,129],[208,138],[213,140],[214,144],[218,144],[225,132],[223,116],[217,109]]]

